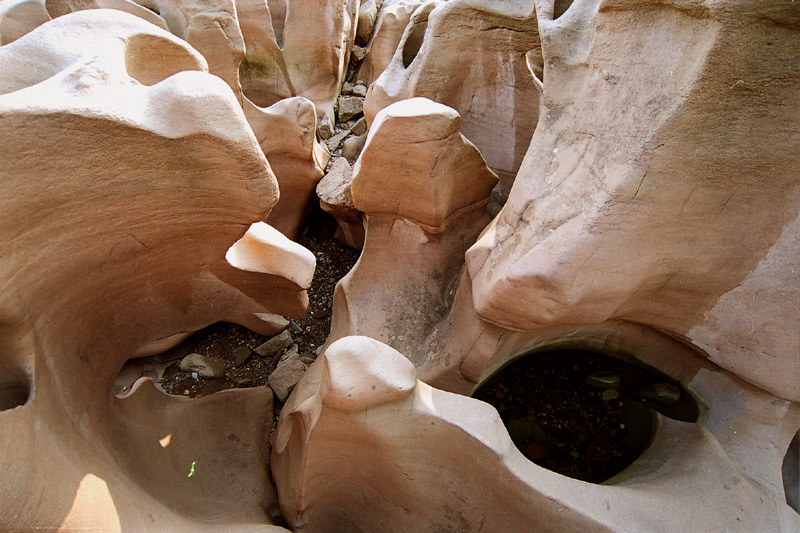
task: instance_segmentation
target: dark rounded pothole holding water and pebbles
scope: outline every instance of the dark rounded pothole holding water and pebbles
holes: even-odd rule
[[[497,409],[529,460],[590,483],[620,473],[644,452],[653,410],[685,422],[698,416],[694,399],[669,376],[582,350],[520,357],[473,397]]]

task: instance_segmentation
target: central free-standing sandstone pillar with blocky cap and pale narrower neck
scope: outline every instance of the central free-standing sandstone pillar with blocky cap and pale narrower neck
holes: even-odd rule
[[[375,118],[352,182],[366,240],[336,288],[329,343],[368,334],[412,350],[446,312],[497,182],[459,124],[454,110],[424,98],[392,104]],[[413,304],[393,305],[396,298]]]

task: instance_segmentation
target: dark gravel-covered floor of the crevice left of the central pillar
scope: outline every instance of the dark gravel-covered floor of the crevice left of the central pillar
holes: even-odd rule
[[[315,206],[306,228],[297,242],[311,250],[317,258],[317,269],[308,290],[309,312],[291,321],[289,330],[301,356],[313,359],[328,338],[331,327],[333,291],[336,283],[358,260],[360,252],[334,239],[336,219]],[[260,335],[237,324],[218,322],[193,333],[189,338],[163,353],[125,362],[114,385],[118,397],[130,392],[136,380],[147,377],[168,394],[198,398],[233,388],[267,385],[280,355],[261,356],[254,350],[270,337]],[[237,354],[249,350],[246,360],[236,363]],[[225,375],[206,378],[180,370],[181,360],[190,353],[224,360]],[[246,354],[246,352],[245,352]],[[276,400],[276,411],[280,404]]]

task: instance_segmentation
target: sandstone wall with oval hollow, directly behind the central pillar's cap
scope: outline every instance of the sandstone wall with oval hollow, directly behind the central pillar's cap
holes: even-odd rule
[[[461,133],[500,177],[497,194],[505,198],[539,117],[531,50],[541,64],[530,1],[425,3],[372,85],[364,114],[371,122],[378,110],[415,96],[452,107],[461,114]]]

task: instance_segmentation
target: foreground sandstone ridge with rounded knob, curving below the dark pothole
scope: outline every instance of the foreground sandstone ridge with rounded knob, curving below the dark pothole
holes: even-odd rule
[[[593,485],[525,459],[493,407],[416,380],[401,353],[366,337],[340,339],[281,411],[272,465],[283,516],[295,531],[454,523],[461,531],[686,531],[700,522],[716,531],[789,531],[797,515],[749,467],[779,468],[778,454],[756,458],[759,443],[783,444],[797,406],[777,405],[711,366],[696,359],[690,369],[701,398],[769,413],[780,428],[750,416],[733,443],[714,415],[698,424],[656,415],[648,450]],[[743,456],[742,444],[753,455]]]

